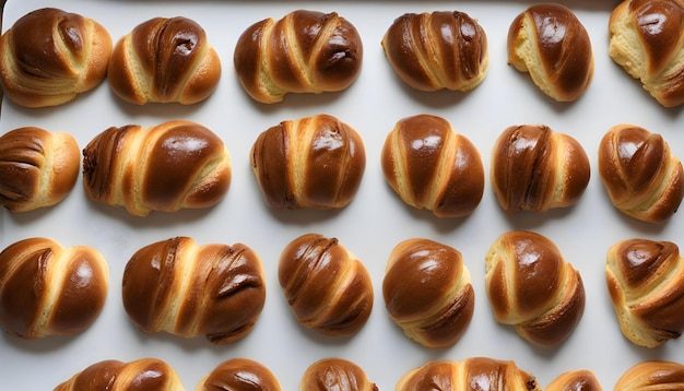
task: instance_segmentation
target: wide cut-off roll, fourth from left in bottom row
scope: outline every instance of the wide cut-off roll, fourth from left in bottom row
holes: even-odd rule
[[[397,391],[435,389],[541,391],[536,378],[515,362],[490,357],[431,360],[404,374],[396,387]]]

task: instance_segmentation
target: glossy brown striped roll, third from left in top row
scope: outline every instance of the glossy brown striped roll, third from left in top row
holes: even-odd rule
[[[237,78],[255,100],[282,102],[287,93],[338,92],[361,73],[356,27],[335,12],[297,10],[249,26],[235,45]]]

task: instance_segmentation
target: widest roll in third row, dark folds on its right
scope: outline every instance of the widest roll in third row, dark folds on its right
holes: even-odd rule
[[[263,266],[249,247],[199,246],[189,237],[138,250],[126,264],[123,308],[144,333],[202,334],[237,341],[255,327],[266,301]]]

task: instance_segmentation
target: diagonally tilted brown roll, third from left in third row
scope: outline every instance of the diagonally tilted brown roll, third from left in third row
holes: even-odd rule
[[[306,234],[292,240],[278,279],[297,321],[320,333],[355,334],[370,316],[370,275],[337,238]]]

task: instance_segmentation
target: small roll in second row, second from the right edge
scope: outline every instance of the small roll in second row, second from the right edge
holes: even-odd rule
[[[546,212],[579,202],[591,168],[581,144],[544,125],[508,127],[492,151],[490,180],[506,212]]]

